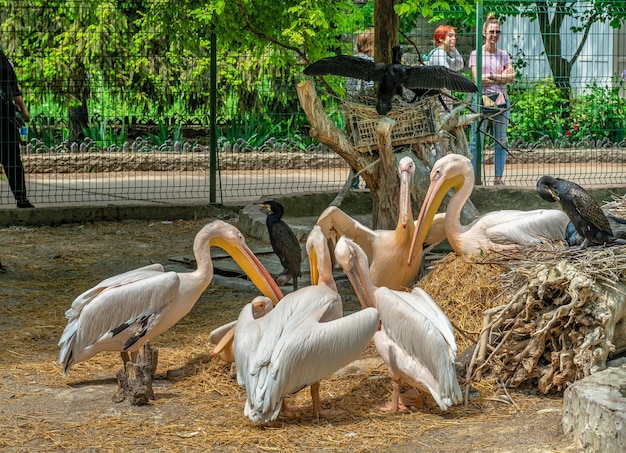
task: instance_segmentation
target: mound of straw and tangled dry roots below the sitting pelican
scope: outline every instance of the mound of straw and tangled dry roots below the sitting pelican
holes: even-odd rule
[[[626,316],[625,276],[626,247],[544,244],[514,256],[450,254],[420,286],[462,334],[459,350],[471,348],[468,384],[489,377],[548,393],[604,369],[626,343],[614,337]]]

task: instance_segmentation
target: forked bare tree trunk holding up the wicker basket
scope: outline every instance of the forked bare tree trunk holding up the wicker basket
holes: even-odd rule
[[[300,104],[311,123],[311,137],[339,154],[354,170],[362,172],[361,177],[372,193],[374,228],[393,229],[397,223],[400,190],[398,162],[402,157],[410,155],[415,162],[411,206],[417,218],[428,191],[430,168],[435,160],[448,153],[469,156],[469,142],[464,127],[475,121],[477,115],[459,115],[463,108],[436,118],[435,123],[439,128],[436,133],[417,137],[402,146],[393,146],[391,141],[390,135],[396,122],[381,117],[375,126],[377,149],[362,151],[356,149],[350,137],[326,115],[312,80],[298,84],[297,90]],[[440,112],[441,109],[434,111]],[[448,198],[444,200],[443,206],[447,206],[447,202]],[[469,223],[477,214],[478,211],[468,200],[461,213],[461,222]]]

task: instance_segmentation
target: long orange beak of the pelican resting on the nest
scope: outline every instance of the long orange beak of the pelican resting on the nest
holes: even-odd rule
[[[446,178],[442,174],[435,174],[431,177],[430,186],[428,192],[424,197],[424,203],[420,209],[419,216],[417,217],[415,233],[413,234],[413,242],[411,242],[411,248],[409,250],[409,261],[411,264],[416,249],[422,250],[424,240],[428,235],[428,230],[433,223],[435,214],[439,210],[439,206],[443,202],[446,194],[450,189],[458,191],[465,181],[463,175],[454,175]]]

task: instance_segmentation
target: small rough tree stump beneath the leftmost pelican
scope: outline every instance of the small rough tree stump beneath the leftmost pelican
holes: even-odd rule
[[[118,389],[114,403],[128,400],[133,406],[150,404],[154,399],[152,379],[156,371],[159,352],[146,342],[137,356],[137,363],[126,362],[125,368],[116,374]]]

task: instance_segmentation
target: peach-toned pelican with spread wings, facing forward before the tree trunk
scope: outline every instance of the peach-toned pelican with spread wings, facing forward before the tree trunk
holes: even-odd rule
[[[317,224],[331,242],[336,244],[339,237],[347,236],[359,244],[370,262],[374,284],[391,289],[404,289],[413,282],[419,273],[423,253],[420,250],[415,259],[409,259],[408,256],[416,228],[411,210],[411,182],[415,173],[413,159],[409,156],[403,157],[398,164],[398,172],[400,200],[395,230],[372,230],[334,206],[322,212],[317,220]],[[443,216],[442,214],[437,219],[442,220]],[[443,222],[438,222],[437,225],[443,225]],[[425,247],[432,248],[445,239],[445,231],[437,225],[432,228],[430,236],[424,239]]]

